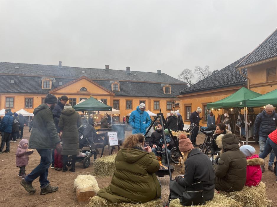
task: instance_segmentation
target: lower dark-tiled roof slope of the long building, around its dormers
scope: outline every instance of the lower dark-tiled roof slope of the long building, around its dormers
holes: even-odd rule
[[[14,80],[14,83],[11,83]],[[55,78],[52,81],[52,89],[59,87],[58,83],[66,84],[75,79]],[[111,91],[109,80],[93,80],[100,86]],[[164,94],[162,86],[159,83],[140,83],[140,82],[120,82],[120,91],[113,91],[115,96],[140,96],[140,97],[162,97],[174,98],[180,90],[186,85],[170,84],[171,94]],[[1,75],[0,76],[0,93],[28,93],[28,94],[47,94],[49,89],[41,89],[42,78],[37,76],[17,76],[17,75]],[[51,89],[51,90],[52,90]]]

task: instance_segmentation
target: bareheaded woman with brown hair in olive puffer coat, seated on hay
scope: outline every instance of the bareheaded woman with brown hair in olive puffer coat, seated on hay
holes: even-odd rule
[[[111,184],[100,189],[99,196],[112,203],[144,203],[161,196],[161,185],[155,172],[159,161],[148,146],[143,150],[144,136],[126,138],[115,157],[115,173]]]

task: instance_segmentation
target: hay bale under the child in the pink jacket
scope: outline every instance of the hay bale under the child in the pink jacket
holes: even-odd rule
[[[229,193],[221,191],[220,193],[242,203],[242,206],[245,207],[272,206],[272,202],[267,199],[265,188],[265,183],[260,182],[256,187],[244,186],[241,191]]]

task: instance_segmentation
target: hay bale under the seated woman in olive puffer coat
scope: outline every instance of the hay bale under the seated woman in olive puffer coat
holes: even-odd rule
[[[89,199],[90,207],[162,207],[162,199],[156,199],[146,203],[111,203],[100,196],[94,196]]]

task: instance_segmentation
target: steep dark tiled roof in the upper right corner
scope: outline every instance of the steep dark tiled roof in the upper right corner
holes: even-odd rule
[[[277,29],[252,51],[237,67],[277,56]]]

